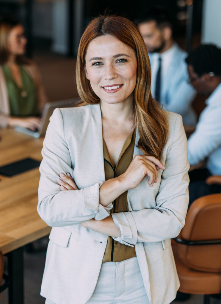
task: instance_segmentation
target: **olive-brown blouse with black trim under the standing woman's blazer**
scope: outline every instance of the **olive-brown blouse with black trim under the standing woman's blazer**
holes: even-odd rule
[[[132,162],[133,159],[135,136],[136,128],[127,137],[115,168],[111,164],[111,158],[108,153],[106,143],[103,140],[105,180],[117,177],[127,170],[129,164]],[[114,200],[113,205],[113,208],[110,210],[111,213],[129,211],[127,202],[127,191],[118,196],[118,198]],[[135,256],[135,247],[127,246],[116,242],[112,237],[108,236],[107,246],[103,256],[103,263],[121,262]]]

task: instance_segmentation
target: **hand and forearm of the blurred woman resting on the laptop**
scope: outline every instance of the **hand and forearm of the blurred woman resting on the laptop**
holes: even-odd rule
[[[9,126],[20,126],[30,130],[37,130],[40,128],[40,117],[30,116],[30,117],[9,117]]]

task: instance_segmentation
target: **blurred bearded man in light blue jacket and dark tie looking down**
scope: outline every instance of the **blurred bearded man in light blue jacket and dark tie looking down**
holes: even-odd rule
[[[152,95],[165,110],[180,114],[184,125],[195,126],[191,107],[195,90],[187,82],[187,54],[174,42],[170,15],[153,8],[143,16],[136,23],[149,53]]]

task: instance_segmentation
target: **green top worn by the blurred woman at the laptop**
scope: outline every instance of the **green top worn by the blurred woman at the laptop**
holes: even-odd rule
[[[26,70],[19,66],[22,88],[18,87],[6,65],[2,65],[2,70],[5,75],[11,116],[39,115],[35,84]]]

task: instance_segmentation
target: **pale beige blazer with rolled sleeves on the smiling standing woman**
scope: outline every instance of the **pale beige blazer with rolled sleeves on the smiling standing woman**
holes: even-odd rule
[[[135,245],[144,286],[152,304],[168,304],[179,288],[170,238],[184,226],[188,207],[187,139],[182,118],[167,112],[170,132],[163,150],[158,182],[152,188],[145,177],[128,191],[127,238]],[[136,147],[134,156],[142,155]],[[52,226],[41,295],[57,304],[84,304],[93,294],[99,276],[107,235],[79,225],[87,219],[109,216],[99,204],[99,187],[105,181],[100,104],[55,109],[43,144],[38,212]],[[69,172],[79,190],[60,191],[60,172]],[[112,204],[111,204],[112,205]]]

